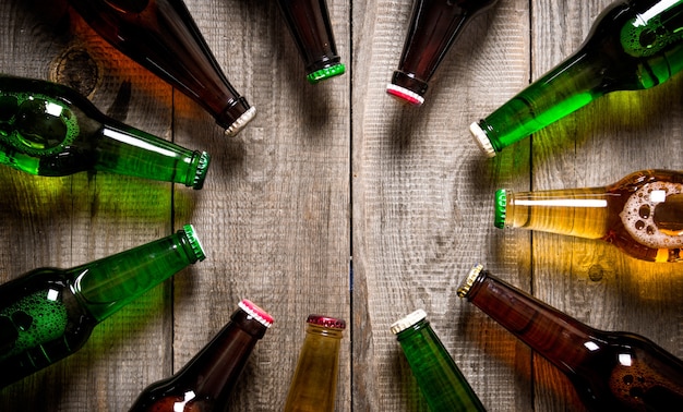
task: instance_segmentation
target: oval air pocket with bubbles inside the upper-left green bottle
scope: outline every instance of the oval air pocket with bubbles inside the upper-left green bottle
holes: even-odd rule
[[[0,93],[0,142],[31,156],[62,152],[79,135],[63,102],[39,94]]]

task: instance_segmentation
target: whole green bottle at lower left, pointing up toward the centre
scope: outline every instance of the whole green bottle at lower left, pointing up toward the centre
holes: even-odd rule
[[[0,388],[74,353],[97,324],[204,258],[187,225],[109,257],[34,269],[0,286]]]

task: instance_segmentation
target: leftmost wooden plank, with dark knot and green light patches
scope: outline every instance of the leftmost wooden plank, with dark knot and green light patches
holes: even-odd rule
[[[0,5],[0,70],[73,86],[107,114],[170,136],[170,87],[101,41],[63,1]],[[0,170],[7,237],[2,281],[69,268],[170,234],[167,183],[107,173],[38,178]],[[169,373],[169,289],[160,286],[99,325],[76,354],[2,391],[2,410],[125,410],[137,388]],[[167,360],[167,362],[165,362]],[[56,407],[58,405],[58,407]]]

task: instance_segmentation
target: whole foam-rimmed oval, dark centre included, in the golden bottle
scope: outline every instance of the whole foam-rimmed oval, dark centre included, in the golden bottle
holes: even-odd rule
[[[640,244],[683,247],[683,184],[644,184],[628,197],[619,216],[628,234]]]

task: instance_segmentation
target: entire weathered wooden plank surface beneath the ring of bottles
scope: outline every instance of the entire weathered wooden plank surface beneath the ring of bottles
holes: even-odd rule
[[[248,298],[275,325],[231,410],[281,410],[309,313],[347,319],[338,411],[426,411],[390,325],[424,308],[491,411],[582,410],[548,362],[455,289],[475,262],[601,329],[683,358],[683,277],[610,245],[493,228],[493,192],[683,169],[682,82],[608,96],[486,159],[467,126],[575,50],[609,0],[500,0],[408,108],[385,95],[410,1],[328,0],[344,76],[311,86],[275,1],[187,0],[257,118],[233,140],[100,40],[65,0],[0,3],[0,71],[79,88],[112,118],[213,165],[201,191],[105,173],[0,169],[0,280],[72,267],[196,227],[208,258],[99,325],[75,355],[0,392],[2,411],[125,411]],[[352,256],[352,271],[351,267]],[[351,274],[351,276],[350,276]]]

